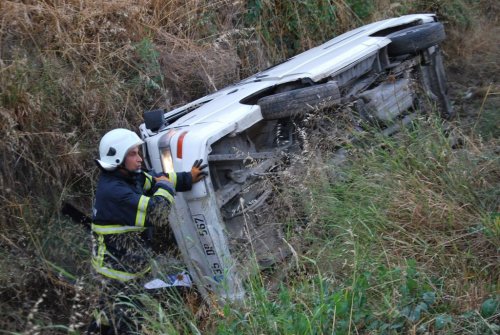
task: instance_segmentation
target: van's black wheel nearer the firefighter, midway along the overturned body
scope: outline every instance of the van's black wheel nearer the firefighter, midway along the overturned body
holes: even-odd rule
[[[257,101],[264,120],[293,117],[339,103],[339,87],[333,81],[269,95]]]

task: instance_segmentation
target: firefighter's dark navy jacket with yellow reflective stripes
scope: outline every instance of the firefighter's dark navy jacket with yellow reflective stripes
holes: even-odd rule
[[[153,225],[167,224],[174,189],[190,190],[191,173],[166,174],[102,171],[93,210],[92,266],[100,274],[127,281],[149,271]]]

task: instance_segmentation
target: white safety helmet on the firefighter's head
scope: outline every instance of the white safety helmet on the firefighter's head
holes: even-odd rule
[[[97,163],[107,171],[115,170],[125,160],[127,152],[144,142],[136,133],[128,129],[118,128],[106,133],[99,143]]]

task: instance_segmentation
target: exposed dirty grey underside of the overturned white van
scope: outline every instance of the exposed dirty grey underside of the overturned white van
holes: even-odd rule
[[[286,188],[279,172],[287,168],[290,155],[304,149],[301,130],[311,112],[322,119],[314,131],[325,138],[334,136],[335,118],[345,117],[339,111],[348,111],[358,130],[376,127],[391,135],[419,113],[437,110],[451,117],[446,91],[437,45],[417,52],[385,47],[319,83],[304,78],[242,101],[260,105],[264,119],[214,143],[208,157],[231,254],[240,264],[256,259],[263,268],[290,254],[274,198]],[[339,150],[342,143],[333,147]]]

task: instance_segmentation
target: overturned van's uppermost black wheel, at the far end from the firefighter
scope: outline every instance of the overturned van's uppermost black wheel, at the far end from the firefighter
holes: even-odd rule
[[[439,44],[446,38],[441,22],[431,22],[406,28],[387,35],[392,42],[387,47],[389,56],[415,54]]]

